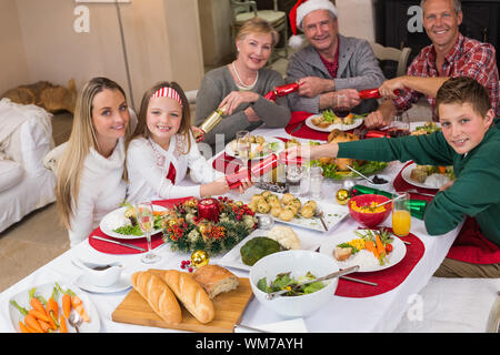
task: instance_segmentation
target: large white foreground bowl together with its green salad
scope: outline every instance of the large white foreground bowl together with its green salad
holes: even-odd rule
[[[250,285],[256,298],[283,317],[304,317],[332,301],[338,278],[301,285],[339,271],[333,257],[312,251],[293,250],[273,253],[259,260],[250,268]],[[271,292],[289,290],[273,300]]]

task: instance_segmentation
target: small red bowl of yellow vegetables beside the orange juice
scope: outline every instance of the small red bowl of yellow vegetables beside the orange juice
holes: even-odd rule
[[[357,195],[349,200],[349,213],[356,222],[372,229],[386,221],[391,213],[391,202],[379,206],[387,201],[391,199],[377,194]]]

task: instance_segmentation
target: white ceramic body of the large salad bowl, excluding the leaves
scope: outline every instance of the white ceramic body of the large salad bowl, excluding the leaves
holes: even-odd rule
[[[259,260],[250,268],[250,285],[256,298],[270,311],[283,317],[306,317],[333,298],[337,277],[323,281],[327,285],[317,292],[302,296],[278,296],[273,300],[267,300],[266,293],[257,287],[257,283],[260,278],[267,277],[269,284],[278,274],[287,272],[291,272],[291,276],[298,278],[308,272],[321,277],[336,271],[339,271],[339,266],[333,257],[328,255],[311,251],[284,251]]]

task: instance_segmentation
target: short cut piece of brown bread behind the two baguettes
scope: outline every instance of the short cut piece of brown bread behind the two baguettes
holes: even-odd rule
[[[239,285],[238,277],[219,265],[201,266],[192,274],[192,278],[203,287],[210,298],[222,292],[236,290]]]

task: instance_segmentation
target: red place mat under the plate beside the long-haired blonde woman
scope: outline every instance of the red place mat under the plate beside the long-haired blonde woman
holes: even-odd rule
[[[160,200],[160,201],[153,201],[153,204],[161,205],[167,209],[171,209],[176,203],[184,202],[187,200],[192,199],[190,197],[183,197],[183,199],[171,199],[171,200]],[[90,235],[89,235],[89,244],[98,252],[107,253],[107,254],[140,254],[143,253],[141,251],[128,247],[128,246],[121,246],[114,243],[108,243],[103,241],[96,240],[93,236],[102,236],[109,240],[113,240],[117,242],[122,242],[127,244],[132,244],[136,246],[140,246],[144,250],[148,250],[148,242],[146,241],[146,237],[138,237],[133,240],[121,240],[117,237],[109,236],[104,234],[100,227],[97,227]],[[163,233],[159,232],[154,235],[151,235],[151,248],[156,248],[157,246],[160,246],[163,244]]]

